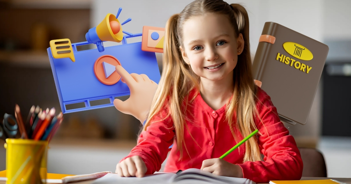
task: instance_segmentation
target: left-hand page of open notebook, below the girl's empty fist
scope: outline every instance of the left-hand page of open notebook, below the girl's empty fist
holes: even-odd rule
[[[120,183],[120,184],[166,184],[168,180],[174,173],[158,173],[153,175],[146,175],[144,177],[119,177],[118,174],[109,173],[101,178],[95,180],[92,184],[111,184],[111,183]]]

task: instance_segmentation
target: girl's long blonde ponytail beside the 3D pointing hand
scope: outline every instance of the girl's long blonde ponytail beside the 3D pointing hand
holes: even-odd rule
[[[188,94],[194,87],[198,87],[198,80],[193,76],[190,66],[185,64],[183,57],[181,57],[178,23],[179,14],[172,15],[166,23],[163,70],[143,131],[152,123],[152,118],[157,116],[159,111],[167,109],[168,115],[163,120],[169,116],[173,120],[177,150],[180,151],[179,159],[181,159],[183,157],[183,144],[189,155],[184,142],[184,127],[187,128],[185,109],[187,109],[188,104],[183,105],[182,102],[186,97],[189,97]]]

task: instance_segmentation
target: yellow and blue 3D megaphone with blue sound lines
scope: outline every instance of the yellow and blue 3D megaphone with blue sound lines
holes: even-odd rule
[[[122,8],[119,8],[116,16],[114,16],[111,13],[107,14],[104,20],[102,20],[98,26],[89,29],[89,31],[85,34],[85,38],[87,39],[87,41],[89,43],[96,44],[99,52],[103,52],[105,50],[102,41],[121,42],[123,39],[123,33],[127,35],[133,35],[131,33],[122,31],[121,25],[124,25],[132,19],[129,18],[123,23],[120,23],[117,18],[121,11]]]

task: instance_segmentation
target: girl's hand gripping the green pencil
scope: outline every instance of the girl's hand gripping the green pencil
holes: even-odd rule
[[[206,159],[202,162],[201,170],[211,172],[219,176],[243,177],[243,170],[239,165],[229,163],[221,158]]]

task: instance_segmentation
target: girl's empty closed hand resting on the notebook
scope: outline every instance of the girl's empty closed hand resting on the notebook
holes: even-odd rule
[[[144,177],[147,171],[145,162],[140,156],[132,156],[126,158],[124,161],[120,162],[116,166],[116,173],[120,177]]]

